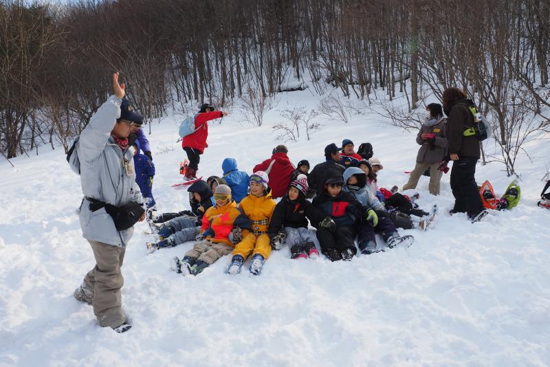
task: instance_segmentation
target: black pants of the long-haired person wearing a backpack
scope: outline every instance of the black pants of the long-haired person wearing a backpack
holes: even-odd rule
[[[475,216],[483,210],[476,179],[477,158],[462,157],[452,163],[451,189],[454,196],[454,212],[467,212]]]

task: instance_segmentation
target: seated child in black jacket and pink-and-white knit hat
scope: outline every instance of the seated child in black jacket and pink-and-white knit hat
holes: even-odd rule
[[[283,243],[290,247],[290,258],[317,258],[319,252],[314,243],[315,233],[307,229],[307,220],[315,227],[325,215],[306,200],[307,177],[298,175],[273,211],[270,222],[270,241],[274,249],[281,249]]]

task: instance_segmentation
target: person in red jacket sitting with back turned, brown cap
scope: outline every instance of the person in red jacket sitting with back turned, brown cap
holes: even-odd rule
[[[283,197],[290,185],[290,177],[296,169],[287,156],[288,148],[278,145],[273,149],[270,159],[265,159],[261,164],[254,166],[253,171],[263,170],[270,177],[270,188],[273,199]]]

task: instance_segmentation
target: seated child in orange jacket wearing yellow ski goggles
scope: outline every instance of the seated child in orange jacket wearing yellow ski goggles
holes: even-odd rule
[[[179,260],[177,256],[172,259],[170,267],[177,273],[196,276],[221,256],[230,254],[234,248],[231,240],[235,227],[250,229],[250,221],[236,208],[229,186],[218,185],[214,199],[216,205],[206,210],[202,217],[201,233],[197,236],[199,242],[186,252],[183,259]]]

